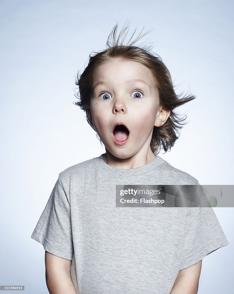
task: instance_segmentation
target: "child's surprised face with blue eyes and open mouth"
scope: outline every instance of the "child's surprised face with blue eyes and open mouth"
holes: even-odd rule
[[[158,101],[153,76],[146,66],[115,59],[94,72],[87,116],[106,149],[117,158],[129,158],[143,150],[147,152],[154,126],[163,124],[157,119]],[[128,130],[117,127],[113,133],[116,123],[123,123]]]

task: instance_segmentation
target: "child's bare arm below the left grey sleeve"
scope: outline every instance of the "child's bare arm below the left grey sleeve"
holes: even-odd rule
[[[46,285],[50,294],[76,294],[70,275],[71,260],[45,252]]]

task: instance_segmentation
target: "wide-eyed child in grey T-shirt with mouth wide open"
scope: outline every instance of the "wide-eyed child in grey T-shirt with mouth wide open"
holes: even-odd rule
[[[157,155],[178,138],[174,108],[195,97],[179,99],[159,57],[118,40],[77,82],[106,153],[59,173],[31,237],[50,293],[197,293],[202,259],[228,245],[213,209],[116,207],[116,185],[199,185]]]

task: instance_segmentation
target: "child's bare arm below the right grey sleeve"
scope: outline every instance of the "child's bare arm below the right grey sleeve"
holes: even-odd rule
[[[180,270],[170,294],[197,294],[202,260]]]

